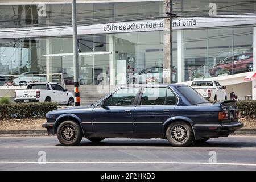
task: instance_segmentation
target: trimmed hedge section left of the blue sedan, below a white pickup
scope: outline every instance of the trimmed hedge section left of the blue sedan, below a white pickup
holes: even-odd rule
[[[56,109],[57,104],[52,102],[0,104],[0,119],[44,118]]]

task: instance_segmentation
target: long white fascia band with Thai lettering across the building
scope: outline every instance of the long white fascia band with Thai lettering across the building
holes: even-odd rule
[[[43,10],[40,15],[45,15]],[[174,30],[184,30],[187,28],[236,26],[245,24],[256,24],[256,14],[176,18],[173,19],[172,26]],[[79,35],[142,31],[163,31],[163,20],[93,24],[77,27],[77,34]],[[0,39],[70,35],[72,35],[72,26],[0,29]]]

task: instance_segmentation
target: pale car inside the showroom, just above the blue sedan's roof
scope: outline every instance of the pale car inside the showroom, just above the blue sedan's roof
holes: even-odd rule
[[[127,76],[128,84],[146,84],[147,80],[154,80],[156,83],[163,82],[163,67],[151,67],[142,69],[138,73],[131,74]],[[172,70],[172,80],[177,81],[177,71]]]

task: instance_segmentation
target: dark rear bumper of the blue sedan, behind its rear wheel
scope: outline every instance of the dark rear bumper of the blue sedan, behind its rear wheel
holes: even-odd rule
[[[223,124],[195,124],[196,139],[228,137],[230,133],[234,133],[237,129],[243,127],[241,122],[230,122]]]

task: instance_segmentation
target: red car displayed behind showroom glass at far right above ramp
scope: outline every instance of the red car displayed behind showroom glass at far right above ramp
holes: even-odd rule
[[[253,71],[253,53],[243,53],[233,57],[226,57],[220,63],[209,69],[211,76],[218,76],[223,73],[231,74]]]

